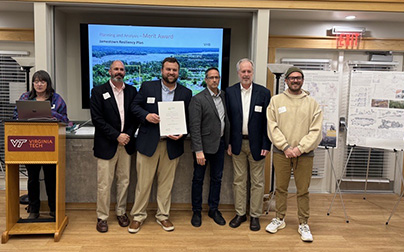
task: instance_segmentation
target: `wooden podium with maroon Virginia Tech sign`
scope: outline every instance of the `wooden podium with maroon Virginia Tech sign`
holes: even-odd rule
[[[6,163],[6,231],[10,235],[54,234],[60,240],[68,223],[65,215],[66,129],[63,123],[49,121],[6,121],[4,123]],[[56,165],[56,211],[54,222],[19,223],[19,165]]]

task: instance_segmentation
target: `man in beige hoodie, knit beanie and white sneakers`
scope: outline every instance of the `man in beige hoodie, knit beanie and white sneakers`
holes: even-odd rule
[[[285,214],[290,176],[297,189],[298,232],[303,241],[313,241],[309,219],[309,186],[314,150],[321,141],[323,113],[314,98],[302,89],[302,70],[291,67],[285,74],[288,89],[274,96],[267,109],[268,136],[273,148],[276,177],[276,218],[266,230],[276,233],[286,226]]]

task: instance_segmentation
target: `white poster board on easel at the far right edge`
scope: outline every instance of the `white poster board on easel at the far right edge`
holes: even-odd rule
[[[404,149],[404,72],[351,72],[347,144]]]

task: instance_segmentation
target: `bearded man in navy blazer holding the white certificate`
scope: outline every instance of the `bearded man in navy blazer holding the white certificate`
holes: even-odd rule
[[[156,221],[166,231],[174,230],[169,220],[171,189],[179,157],[184,153],[185,135],[160,136],[158,102],[183,101],[185,112],[192,98],[192,91],[177,83],[180,65],[175,58],[163,60],[162,80],[144,82],[132,103],[131,110],[140,121],[137,136],[137,184],[135,203],[130,212],[133,221],[130,233],[137,233],[147,218],[146,208],[154,176],[157,176]]]

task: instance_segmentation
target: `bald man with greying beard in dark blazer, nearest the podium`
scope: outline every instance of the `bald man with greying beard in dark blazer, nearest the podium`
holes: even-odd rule
[[[91,90],[91,119],[95,127],[94,156],[97,158],[97,230],[107,232],[111,185],[116,175],[116,215],[119,225],[127,227],[126,199],[130,159],[135,152],[138,122],[130,111],[136,88],[125,85],[125,67],[119,60],[109,69],[111,79]]]

